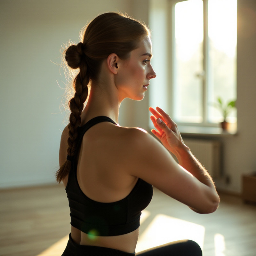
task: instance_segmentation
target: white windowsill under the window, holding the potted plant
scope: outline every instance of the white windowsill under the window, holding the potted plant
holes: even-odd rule
[[[182,136],[197,136],[197,137],[219,137],[236,135],[237,131],[223,131],[220,127],[203,127],[203,126],[187,126],[178,125],[178,129]]]

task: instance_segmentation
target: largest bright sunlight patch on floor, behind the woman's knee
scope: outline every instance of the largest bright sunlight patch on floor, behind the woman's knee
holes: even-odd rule
[[[183,239],[194,240],[203,250],[204,232],[204,226],[157,214],[147,229],[140,234],[136,252]]]

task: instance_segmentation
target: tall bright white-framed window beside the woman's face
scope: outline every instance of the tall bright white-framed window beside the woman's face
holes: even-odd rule
[[[212,103],[218,97],[224,102],[236,99],[237,0],[170,0],[168,8],[159,3],[154,6],[153,2],[152,65],[162,65],[157,68],[160,76],[165,76],[160,78],[161,83],[167,86],[152,86],[150,104],[164,105],[178,124],[216,125],[223,120]],[[164,36],[164,29],[159,27],[166,28],[169,36]],[[163,49],[170,58],[160,54],[162,60],[157,57],[155,64],[155,55]],[[162,102],[156,100],[159,96]],[[236,122],[235,111],[228,121]]]

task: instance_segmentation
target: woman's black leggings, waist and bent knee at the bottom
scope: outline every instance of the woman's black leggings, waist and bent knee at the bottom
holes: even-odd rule
[[[70,234],[62,256],[202,256],[200,246],[192,240],[180,240],[160,245],[143,252],[129,253],[115,249],[76,244]]]

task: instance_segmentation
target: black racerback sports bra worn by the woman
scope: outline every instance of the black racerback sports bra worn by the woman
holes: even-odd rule
[[[80,148],[84,133],[100,122],[116,124],[107,116],[92,118],[78,129],[77,149]],[[74,159],[77,154],[78,150],[76,150]],[[73,227],[86,234],[118,236],[139,228],[141,211],[150,203],[153,187],[139,178],[131,193],[125,198],[113,203],[100,203],[82,192],[76,177],[76,164],[73,161],[66,192],[70,207],[70,224]]]

